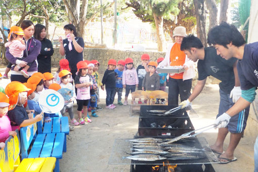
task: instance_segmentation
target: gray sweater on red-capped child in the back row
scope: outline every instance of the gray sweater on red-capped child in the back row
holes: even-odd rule
[[[145,88],[145,90],[159,90],[160,83],[159,83],[159,75],[158,73],[153,73],[153,75],[150,76],[150,72],[147,72],[144,79],[142,87]]]

